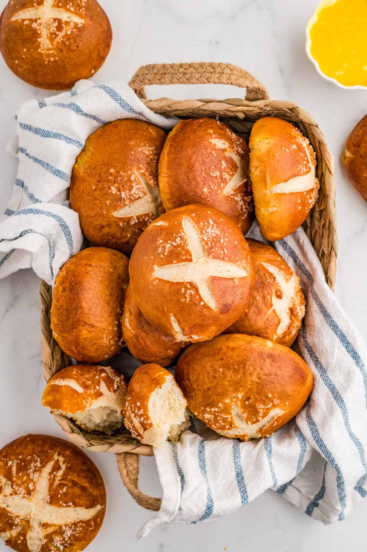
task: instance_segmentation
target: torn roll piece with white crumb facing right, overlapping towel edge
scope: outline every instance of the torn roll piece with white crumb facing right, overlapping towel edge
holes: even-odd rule
[[[144,364],[127,388],[125,427],[141,443],[159,447],[178,441],[189,427],[187,402],[173,375],[158,364]]]

